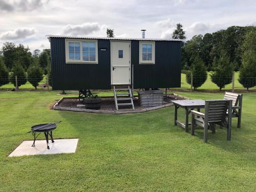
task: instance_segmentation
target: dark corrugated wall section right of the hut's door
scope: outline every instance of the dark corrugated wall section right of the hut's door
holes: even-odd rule
[[[134,88],[180,88],[181,42],[155,41],[155,64],[139,64],[139,41],[133,40]]]

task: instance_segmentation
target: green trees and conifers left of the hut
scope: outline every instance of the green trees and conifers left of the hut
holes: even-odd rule
[[[50,49],[34,50],[13,42],[5,42],[0,51],[0,86],[12,82],[21,86],[29,81],[37,89],[43,76],[51,75]]]

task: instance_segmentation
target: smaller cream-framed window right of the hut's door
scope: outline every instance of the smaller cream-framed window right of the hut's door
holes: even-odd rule
[[[140,41],[140,64],[155,64],[155,41]]]

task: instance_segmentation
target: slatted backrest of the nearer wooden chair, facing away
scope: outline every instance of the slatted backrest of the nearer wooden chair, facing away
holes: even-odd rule
[[[207,118],[207,122],[224,122],[229,102],[231,100],[205,101],[205,118]]]

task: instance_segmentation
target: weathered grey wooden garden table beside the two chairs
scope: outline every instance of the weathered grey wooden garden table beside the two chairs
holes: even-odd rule
[[[185,129],[185,132],[188,132],[188,125],[191,123],[188,122],[188,115],[190,114],[191,110],[197,109],[200,112],[201,108],[204,108],[205,101],[204,100],[176,100],[173,101],[175,114],[174,114],[174,124],[180,125]],[[185,123],[178,121],[178,109],[183,108],[185,109]]]

